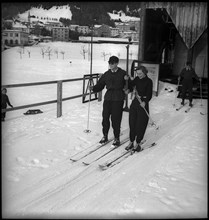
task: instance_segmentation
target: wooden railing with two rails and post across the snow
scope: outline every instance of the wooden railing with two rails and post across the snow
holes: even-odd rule
[[[97,79],[100,74],[93,74],[91,79]],[[85,94],[80,94],[80,95],[75,95],[75,96],[70,96],[67,98],[62,98],[62,85],[65,82],[74,82],[74,81],[80,81],[80,80],[85,80],[85,78],[75,78],[75,79],[66,79],[66,80],[55,80],[55,81],[46,81],[46,82],[35,82],[35,83],[22,83],[22,84],[12,84],[12,85],[2,85],[1,88],[15,88],[15,87],[26,87],[26,86],[39,86],[39,85],[46,85],[46,84],[57,84],[57,99],[56,100],[51,100],[51,101],[46,101],[46,102],[39,102],[39,103],[34,103],[34,104],[29,104],[29,105],[22,105],[22,106],[17,106],[13,108],[8,108],[8,109],[2,109],[1,112],[8,112],[8,111],[15,111],[19,109],[25,109],[29,107],[35,107],[35,106],[40,106],[40,105],[48,105],[52,103],[57,103],[57,117],[62,116],[62,102],[70,99],[76,99],[79,97],[85,97],[89,95],[89,93]],[[101,101],[101,95],[99,95],[99,101]]]

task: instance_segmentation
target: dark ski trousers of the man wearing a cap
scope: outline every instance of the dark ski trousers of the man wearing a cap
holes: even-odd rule
[[[110,129],[110,118],[112,122],[112,128],[115,138],[120,136],[120,126],[123,115],[123,104],[124,101],[108,101],[103,102],[103,112],[102,112],[102,126],[103,134],[108,135]]]

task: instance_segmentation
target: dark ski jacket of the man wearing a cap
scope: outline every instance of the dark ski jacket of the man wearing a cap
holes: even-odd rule
[[[114,73],[109,69],[93,87],[93,92],[100,92],[106,86],[107,92],[105,93],[104,100],[123,101],[125,99],[125,93],[123,91],[125,86],[125,75],[126,71],[120,67],[118,67],[118,70]]]

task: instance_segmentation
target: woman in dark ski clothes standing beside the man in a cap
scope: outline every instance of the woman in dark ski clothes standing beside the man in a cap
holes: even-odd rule
[[[139,66],[135,69],[136,77],[128,81],[128,92],[134,92],[134,99],[130,105],[129,111],[129,127],[130,142],[125,148],[126,150],[141,151],[141,141],[148,125],[149,117],[149,101],[152,98],[153,83],[147,76],[147,69]],[[147,112],[146,112],[147,111]],[[134,145],[136,141],[136,145]]]

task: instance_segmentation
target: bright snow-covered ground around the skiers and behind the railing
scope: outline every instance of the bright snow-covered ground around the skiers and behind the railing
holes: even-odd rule
[[[79,78],[89,74],[88,55],[80,43],[48,43],[2,52],[2,85]],[[88,48],[85,44],[85,48]],[[58,50],[42,58],[41,48]],[[27,50],[31,51],[29,58]],[[65,51],[64,59],[61,51]],[[137,45],[131,45],[137,58]],[[109,53],[105,60],[102,53]],[[110,55],[126,58],[126,45],[95,44],[93,73],[107,70]],[[71,63],[70,63],[71,61]],[[120,64],[119,64],[120,66]],[[173,90],[173,92],[172,92]],[[82,82],[63,85],[63,98],[82,93]],[[13,106],[56,99],[56,85],[8,88]],[[104,95],[104,92],[103,92]],[[150,102],[146,144],[155,147],[101,171],[98,164],[124,150],[125,145],[89,166],[70,158],[95,145],[102,137],[102,102],[82,104],[81,98],[7,112],[2,122],[3,218],[206,218],[207,217],[207,100],[194,99],[189,113],[176,111],[176,85],[159,82],[159,95]],[[131,100],[128,100],[131,103]],[[33,108],[31,108],[33,109]],[[200,112],[204,113],[201,115]],[[90,133],[87,129],[89,114]],[[123,113],[122,137],[128,137],[128,113]],[[110,129],[109,137],[112,137]],[[92,156],[111,147],[111,143]],[[92,157],[91,156],[91,157]],[[86,158],[88,159],[88,158]]]

